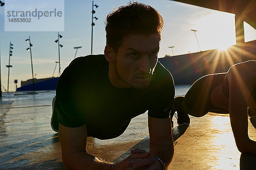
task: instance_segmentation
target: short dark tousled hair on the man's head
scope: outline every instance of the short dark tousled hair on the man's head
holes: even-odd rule
[[[109,13],[106,20],[106,44],[117,51],[124,37],[130,34],[159,34],[163,17],[156,9],[138,2],[129,2]]]

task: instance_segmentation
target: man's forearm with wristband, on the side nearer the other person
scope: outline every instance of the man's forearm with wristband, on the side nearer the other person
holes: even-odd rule
[[[158,157],[165,164],[165,169],[172,161],[174,145],[172,141],[162,141],[150,144],[151,156]]]

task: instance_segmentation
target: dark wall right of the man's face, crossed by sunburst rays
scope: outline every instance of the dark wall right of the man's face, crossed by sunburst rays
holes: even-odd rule
[[[250,59],[256,60],[256,40],[233,45],[226,51],[212,49],[178,56],[159,58],[170,71],[175,85],[192,85],[200,77],[227,72],[231,65]]]

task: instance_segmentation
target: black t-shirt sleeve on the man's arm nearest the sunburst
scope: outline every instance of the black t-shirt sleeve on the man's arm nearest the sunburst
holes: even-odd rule
[[[154,118],[168,118],[175,96],[175,87],[172,75],[157,63],[149,91],[148,116]]]

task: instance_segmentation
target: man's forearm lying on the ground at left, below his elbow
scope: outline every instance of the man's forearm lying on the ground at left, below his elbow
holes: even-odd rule
[[[75,152],[62,159],[68,170],[109,170],[113,164],[100,160],[86,151]]]

